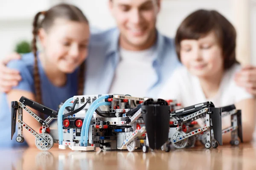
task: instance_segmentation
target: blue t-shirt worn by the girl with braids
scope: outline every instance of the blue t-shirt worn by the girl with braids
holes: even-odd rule
[[[33,77],[34,55],[32,53],[24,54],[20,60],[12,60],[8,63],[9,68],[15,68],[20,71],[22,80],[13,89],[29,91],[35,94],[35,83]],[[41,95],[42,104],[53,110],[58,109],[61,102],[77,95],[78,86],[78,69],[72,74],[67,75],[67,84],[62,87],[56,87],[47,78],[44,69],[38,59],[38,71],[41,80]],[[26,97],[26,96],[25,96]],[[0,147],[15,147],[26,146],[26,141],[23,143],[16,142],[17,129],[11,140],[11,109],[10,103],[7,102],[6,94],[0,96]],[[23,111],[24,114],[29,114]],[[45,116],[46,118],[47,116]],[[44,118],[44,119],[45,119]],[[25,122],[29,125],[29,122]],[[16,126],[17,128],[17,126]],[[26,130],[23,128],[23,130]]]

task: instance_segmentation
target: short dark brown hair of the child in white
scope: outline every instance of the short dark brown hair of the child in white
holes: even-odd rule
[[[224,69],[230,68],[236,61],[236,29],[215,10],[200,9],[189,14],[180,24],[175,36],[176,53],[180,60],[180,42],[198,40],[214,31],[222,48]]]

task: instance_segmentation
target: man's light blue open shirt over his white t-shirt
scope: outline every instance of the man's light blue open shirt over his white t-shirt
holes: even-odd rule
[[[91,35],[85,73],[84,94],[108,93],[120,58],[119,34],[117,28],[112,28]],[[154,98],[157,97],[157,93],[160,91],[163,83],[170,77],[174,69],[181,65],[176,55],[173,39],[165,37],[157,31],[155,46],[157,55],[152,62],[152,66],[156,71],[157,78],[154,79],[154,84],[147,92],[148,97]],[[128,71],[128,68],[124,69],[124,71]],[[127,80],[133,81],[132,77],[143,76],[144,74],[147,74],[147,72],[131,75],[131,77],[127,77]]]

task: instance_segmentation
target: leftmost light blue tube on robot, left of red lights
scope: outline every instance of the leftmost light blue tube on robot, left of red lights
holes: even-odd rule
[[[61,106],[59,112],[58,112],[58,139],[59,139],[59,144],[62,144],[63,141],[63,127],[62,127],[62,119],[63,119],[63,112],[64,109],[68,106],[72,106],[73,103],[70,103],[73,101],[73,97],[70,99],[67,99],[66,102]]]

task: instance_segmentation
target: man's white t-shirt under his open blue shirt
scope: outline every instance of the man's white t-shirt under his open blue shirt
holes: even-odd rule
[[[128,51],[120,48],[120,61],[109,94],[129,94],[145,97],[157,74],[153,68],[154,47],[143,51]]]

